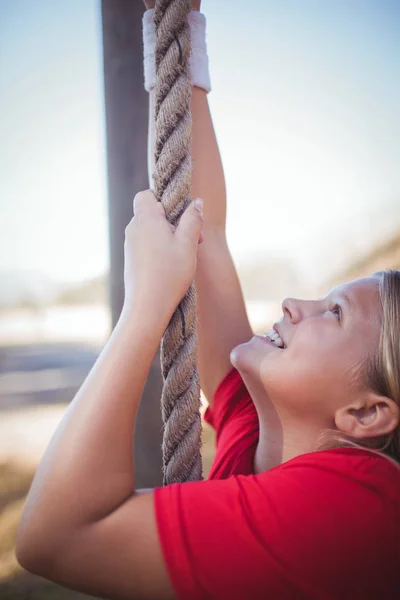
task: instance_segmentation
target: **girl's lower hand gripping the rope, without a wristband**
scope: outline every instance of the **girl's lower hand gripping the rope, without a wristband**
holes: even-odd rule
[[[175,231],[152,190],[136,194],[133,203],[125,230],[124,309],[153,311],[168,324],[195,276],[202,201],[189,204]]]

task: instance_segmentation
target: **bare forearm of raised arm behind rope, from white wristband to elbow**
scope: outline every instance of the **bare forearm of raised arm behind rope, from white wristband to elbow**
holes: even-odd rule
[[[154,90],[150,93],[149,166],[154,172]],[[191,100],[193,163],[190,195],[204,201],[204,234],[208,229],[225,231],[226,188],[221,156],[204,90],[194,87]]]

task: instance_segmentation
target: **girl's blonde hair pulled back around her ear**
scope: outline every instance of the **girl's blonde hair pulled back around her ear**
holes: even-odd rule
[[[361,365],[363,384],[400,407],[400,271],[386,269],[372,276],[379,277],[381,331],[376,352]],[[383,454],[400,468],[400,423],[383,437],[364,440],[325,430],[318,438],[316,450],[349,446]]]

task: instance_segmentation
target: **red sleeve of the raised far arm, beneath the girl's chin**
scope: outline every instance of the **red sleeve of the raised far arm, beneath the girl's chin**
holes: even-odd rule
[[[232,368],[218,386],[204,420],[216,431],[216,454],[209,479],[254,472],[259,438],[258,415],[249,392]]]

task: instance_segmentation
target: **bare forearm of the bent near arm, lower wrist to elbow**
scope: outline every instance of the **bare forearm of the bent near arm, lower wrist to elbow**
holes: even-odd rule
[[[47,548],[47,537],[62,543],[74,528],[104,517],[135,492],[135,420],[168,323],[155,315],[156,307],[148,306],[123,312],[68,407],[25,504],[18,537],[28,547]]]

